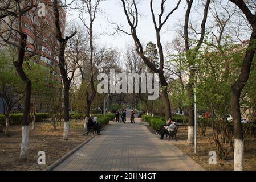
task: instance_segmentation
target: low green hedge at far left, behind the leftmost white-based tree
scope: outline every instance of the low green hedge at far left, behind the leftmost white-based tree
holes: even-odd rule
[[[16,113],[9,115],[9,125],[20,125],[22,121],[23,113]],[[44,121],[49,117],[48,113],[36,113],[35,121]],[[5,125],[5,115],[0,114],[0,123]]]

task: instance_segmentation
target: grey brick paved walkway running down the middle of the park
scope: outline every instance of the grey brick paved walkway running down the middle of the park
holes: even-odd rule
[[[204,170],[166,140],[160,140],[147,126],[109,122],[55,170]]]

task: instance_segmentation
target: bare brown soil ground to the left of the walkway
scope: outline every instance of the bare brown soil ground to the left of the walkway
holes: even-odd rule
[[[0,170],[42,170],[50,166],[90,135],[84,136],[83,123],[70,123],[70,139],[63,140],[63,126],[54,131],[50,122],[38,122],[35,129],[30,126],[29,155],[26,162],[19,161],[21,125],[10,126],[10,137],[0,133]],[[38,151],[46,152],[46,165],[39,165]]]

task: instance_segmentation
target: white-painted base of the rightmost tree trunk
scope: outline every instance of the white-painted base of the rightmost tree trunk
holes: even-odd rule
[[[235,139],[234,171],[243,171],[245,163],[245,143],[242,139]]]

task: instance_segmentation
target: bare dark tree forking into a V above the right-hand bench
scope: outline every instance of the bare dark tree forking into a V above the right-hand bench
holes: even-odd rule
[[[135,42],[135,46],[136,46],[136,51],[137,53],[140,55],[141,59],[144,61],[144,63],[154,72],[157,73],[159,76],[159,80],[162,86],[162,100],[164,100],[164,105],[165,105],[165,115],[166,118],[170,118],[171,117],[171,109],[170,109],[170,101],[168,98],[168,82],[166,82],[166,78],[164,75],[164,51],[162,48],[162,43],[161,43],[161,37],[160,37],[160,32],[162,27],[164,26],[164,24],[167,22],[167,20],[169,19],[170,15],[172,15],[174,13],[174,11],[176,11],[178,9],[178,6],[180,5],[181,1],[177,2],[176,7],[174,7],[174,9],[172,9],[171,11],[169,11],[169,13],[166,15],[166,17],[164,18],[163,15],[165,13],[165,2],[164,0],[161,1],[160,6],[161,6],[161,13],[159,14],[159,19],[158,22],[159,24],[157,25],[157,20],[156,20],[156,15],[155,12],[153,10],[153,0],[150,1],[150,7],[151,7],[151,15],[152,15],[152,21],[155,27],[155,31],[156,31],[156,40],[157,40],[157,48],[158,48],[158,52],[159,52],[159,68],[156,67],[155,64],[153,64],[148,58],[147,56],[145,56],[145,52],[143,50],[143,46],[140,42],[139,37],[137,36],[137,26],[138,26],[138,9],[137,9],[137,2],[134,0],[131,1],[124,1],[121,0],[121,2],[123,3],[123,9],[124,9],[124,13],[125,16],[127,18],[127,22],[129,24],[129,26],[131,27],[131,33],[126,32],[128,35],[131,35],[134,42]],[[122,32],[125,32],[123,30],[120,30]]]

